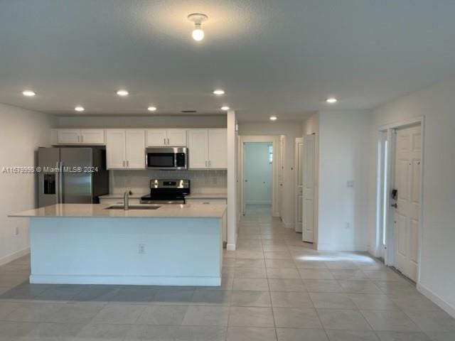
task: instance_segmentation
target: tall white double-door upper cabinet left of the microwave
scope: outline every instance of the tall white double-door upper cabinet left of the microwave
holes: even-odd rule
[[[108,129],[106,161],[107,169],[145,169],[145,131]]]

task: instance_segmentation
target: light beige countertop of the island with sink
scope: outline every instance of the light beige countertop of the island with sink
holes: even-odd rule
[[[103,218],[222,218],[226,205],[161,205],[157,210],[107,210],[111,205],[57,204],[14,213],[9,217],[103,217]]]

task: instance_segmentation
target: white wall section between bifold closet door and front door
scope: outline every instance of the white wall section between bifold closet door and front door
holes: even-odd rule
[[[318,249],[367,251],[370,113],[319,115]]]

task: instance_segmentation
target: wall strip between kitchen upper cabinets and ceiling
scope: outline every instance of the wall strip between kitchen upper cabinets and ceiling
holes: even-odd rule
[[[78,116],[58,117],[58,128],[225,128],[220,116]]]

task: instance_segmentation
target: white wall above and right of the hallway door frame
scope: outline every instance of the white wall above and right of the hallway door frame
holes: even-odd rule
[[[284,190],[282,220],[286,227],[294,228],[294,144],[301,137],[301,121],[245,122],[239,124],[239,135],[285,135]]]

